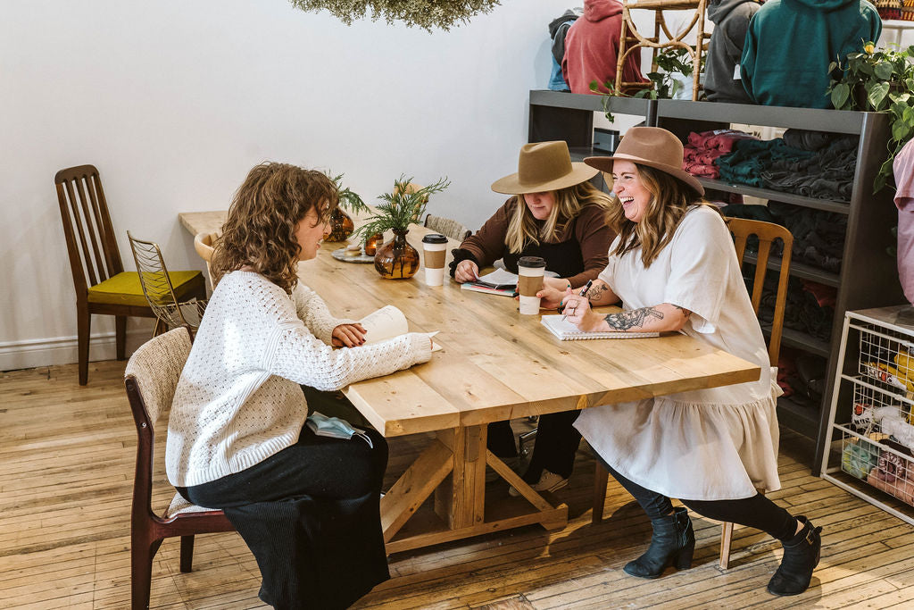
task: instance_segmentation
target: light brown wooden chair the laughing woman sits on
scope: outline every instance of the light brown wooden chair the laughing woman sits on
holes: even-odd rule
[[[761,304],[761,289],[765,283],[765,275],[769,267],[779,270],[778,293],[774,305],[774,321],[771,325],[771,336],[768,340],[768,359],[772,367],[778,365],[778,354],[781,350],[781,331],[784,326],[784,306],[787,304],[787,281],[790,279],[791,268],[791,251],[793,247],[793,236],[789,230],[781,225],[761,220],[749,219],[727,219],[727,226],[734,238],[734,246],[737,251],[737,260],[739,269],[743,268],[743,263],[751,259],[750,262],[755,264],[755,274],[752,282],[752,309],[756,316],[759,315],[759,306]],[[747,256],[746,243],[750,236],[756,236],[759,239],[759,251],[755,255]],[[781,240],[784,244],[783,254],[780,262],[770,262],[771,244],[775,240]],[[606,486],[609,483],[610,474],[605,468],[596,465],[596,474],[593,482],[593,514],[592,523],[599,523],[603,520],[603,505],[606,503]],[[720,533],[720,567],[726,570],[730,562],[730,543],[733,540],[733,524],[725,522],[721,524]]]

